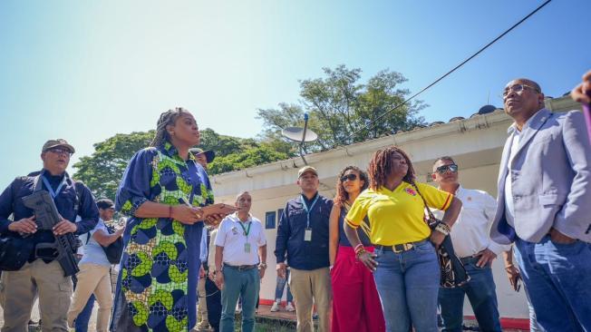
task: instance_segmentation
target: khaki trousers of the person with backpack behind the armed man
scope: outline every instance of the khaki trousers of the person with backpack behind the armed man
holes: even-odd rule
[[[111,294],[111,267],[99,264],[86,263],[79,266],[80,272],[78,284],[73,292],[72,306],[68,311],[68,325],[73,327],[73,321],[82,312],[86,302],[94,293],[99,302],[99,310],[96,318],[96,331],[107,332],[109,330],[109,318],[113,298]]]

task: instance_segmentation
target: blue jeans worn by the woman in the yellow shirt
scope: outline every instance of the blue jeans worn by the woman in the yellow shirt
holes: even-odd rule
[[[379,247],[379,246],[378,246]],[[394,253],[376,249],[378,268],[373,272],[382,301],[386,330],[437,332],[437,294],[440,269],[429,240],[410,250]]]

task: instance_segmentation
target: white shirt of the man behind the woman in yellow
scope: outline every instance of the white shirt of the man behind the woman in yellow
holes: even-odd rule
[[[510,246],[503,246],[489,237],[490,226],[497,210],[497,201],[486,191],[470,190],[458,187],[455,197],[461,200],[458,220],[451,227],[451,243],[459,258],[470,257],[484,249],[490,249],[499,256],[500,252]],[[441,219],[443,211],[433,211],[435,217]]]

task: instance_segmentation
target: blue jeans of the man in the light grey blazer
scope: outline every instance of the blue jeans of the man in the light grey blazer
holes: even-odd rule
[[[536,313],[547,331],[591,330],[591,244],[517,239],[515,259]]]

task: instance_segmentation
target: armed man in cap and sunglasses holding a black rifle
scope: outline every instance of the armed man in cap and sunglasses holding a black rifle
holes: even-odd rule
[[[37,294],[43,330],[68,330],[72,277],[78,271],[75,236],[99,220],[91,191],[65,171],[73,152],[63,139],[45,142],[41,173],[16,178],[0,195],[2,332],[26,329]],[[11,214],[14,221],[8,220]]]

